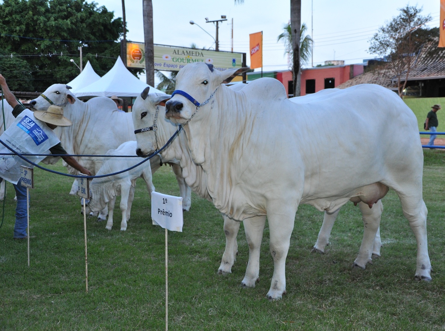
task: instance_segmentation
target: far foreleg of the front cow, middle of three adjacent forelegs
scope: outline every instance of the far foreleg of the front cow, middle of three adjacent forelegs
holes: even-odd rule
[[[255,287],[259,282],[259,253],[266,216],[255,216],[243,220],[244,231],[249,245],[249,260],[247,262],[246,274],[241,282],[243,287]]]

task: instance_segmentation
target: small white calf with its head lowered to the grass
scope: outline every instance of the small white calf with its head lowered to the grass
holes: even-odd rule
[[[109,156],[129,156],[134,155],[136,151],[136,141],[127,141],[121,144],[117,149],[109,150],[106,155]],[[156,157],[159,164],[159,157]],[[151,159],[150,159],[151,160]],[[135,166],[142,161],[141,158],[123,158],[123,157],[105,157],[104,162],[97,171],[96,175],[106,175],[119,172],[124,169]],[[134,198],[134,187],[136,187],[136,179],[144,179],[147,190],[150,193],[154,191],[151,179],[152,170],[150,162],[147,161],[138,167],[129,171],[122,172],[102,178],[94,178],[89,187],[91,191],[91,199],[89,200],[87,212],[100,211],[108,203],[108,221],[106,229],[111,230],[113,227],[113,209],[116,202],[116,196],[121,195],[120,208],[122,212],[121,231],[127,229],[127,222],[130,219],[131,205]]]

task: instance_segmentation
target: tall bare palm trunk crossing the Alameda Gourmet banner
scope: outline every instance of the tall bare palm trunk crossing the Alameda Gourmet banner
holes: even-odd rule
[[[151,0],[142,0],[142,17],[144,20],[146,82],[150,86],[154,86],[153,3]]]

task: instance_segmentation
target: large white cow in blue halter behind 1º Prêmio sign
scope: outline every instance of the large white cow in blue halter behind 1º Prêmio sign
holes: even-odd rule
[[[427,208],[422,199],[423,152],[417,119],[393,92],[373,84],[322,95],[307,104],[286,98],[283,85],[259,79],[240,91],[228,83],[242,69],[204,63],[178,72],[166,117],[184,126],[194,164],[181,164],[192,189],[206,189],[215,207],[249,229],[249,261],[242,284],[259,279],[259,248],[267,219],[274,274],[267,293],[286,292],[285,261],[300,203],[336,211],[349,199],[372,206],[398,194],[417,240],[416,279],[431,280]],[[397,126],[392,123],[397,121]],[[139,142],[138,142],[138,148]],[[149,152],[149,151],[147,151]],[[141,150],[142,154],[146,151]],[[384,190],[382,190],[382,187]],[[369,209],[376,216],[379,211]],[[368,217],[355,264],[371,261],[379,217]]]

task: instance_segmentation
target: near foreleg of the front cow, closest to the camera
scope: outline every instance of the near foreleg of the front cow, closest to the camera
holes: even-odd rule
[[[286,257],[291,242],[291,234],[294,228],[295,213],[291,206],[284,207],[279,203],[279,209],[267,208],[267,219],[270,231],[270,251],[274,259],[274,274],[271,287],[267,292],[269,300],[280,299],[286,294]],[[272,212],[271,212],[272,211]]]

